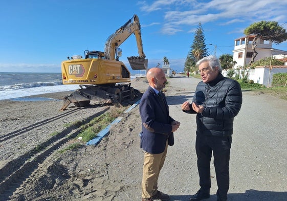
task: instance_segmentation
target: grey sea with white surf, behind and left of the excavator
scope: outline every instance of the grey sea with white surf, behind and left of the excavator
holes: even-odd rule
[[[131,75],[131,79],[135,76]],[[77,90],[79,84],[63,84],[61,73],[1,73],[0,100]]]

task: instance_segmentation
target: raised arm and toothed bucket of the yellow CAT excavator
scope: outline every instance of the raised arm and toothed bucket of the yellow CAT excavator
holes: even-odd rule
[[[143,52],[143,43],[141,38],[141,26],[140,20],[137,15],[129,19],[121,28],[119,28],[114,34],[110,35],[105,42],[105,58],[111,60],[118,60],[117,49],[119,46],[131,35],[135,34],[138,46],[139,56],[127,57],[131,69],[133,70],[146,70],[147,59]]]

